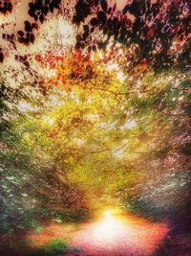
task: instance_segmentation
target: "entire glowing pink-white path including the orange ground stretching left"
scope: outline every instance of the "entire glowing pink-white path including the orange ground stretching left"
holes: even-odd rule
[[[100,221],[76,224],[50,223],[38,234],[28,233],[33,246],[51,239],[64,239],[83,251],[78,255],[151,255],[167,236],[164,223],[147,221],[134,216],[122,219],[105,218]],[[74,254],[68,254],[74,255]]]

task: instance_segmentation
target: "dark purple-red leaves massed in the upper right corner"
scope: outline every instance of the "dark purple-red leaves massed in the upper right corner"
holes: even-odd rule
[[[86,12],[81,12],[82,8]],[[102,50],[112,38],[114,45],[124,44],[130,54],[125,56],[126,69],[138,65],[150,65],[156,71],[168,68],[177,65],[183,47],[190,45],[188,13],[189,1],[184,0],[155,3],[135,0],[128,2],[122,11],[117,10],[116,3],[109,6],[107,1],[79,0],[74,23],[83,24],[83,33],[77,36],[76,48],[89,46],[90,51]],[[178,65],[185,67],[186,62],[180,61]]]

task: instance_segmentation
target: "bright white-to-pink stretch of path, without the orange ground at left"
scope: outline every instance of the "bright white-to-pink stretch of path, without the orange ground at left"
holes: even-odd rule
[[[150,255],[167,232],[163,223],[106,215],[76,232],[73,244],[82,249],[81,255]]]

